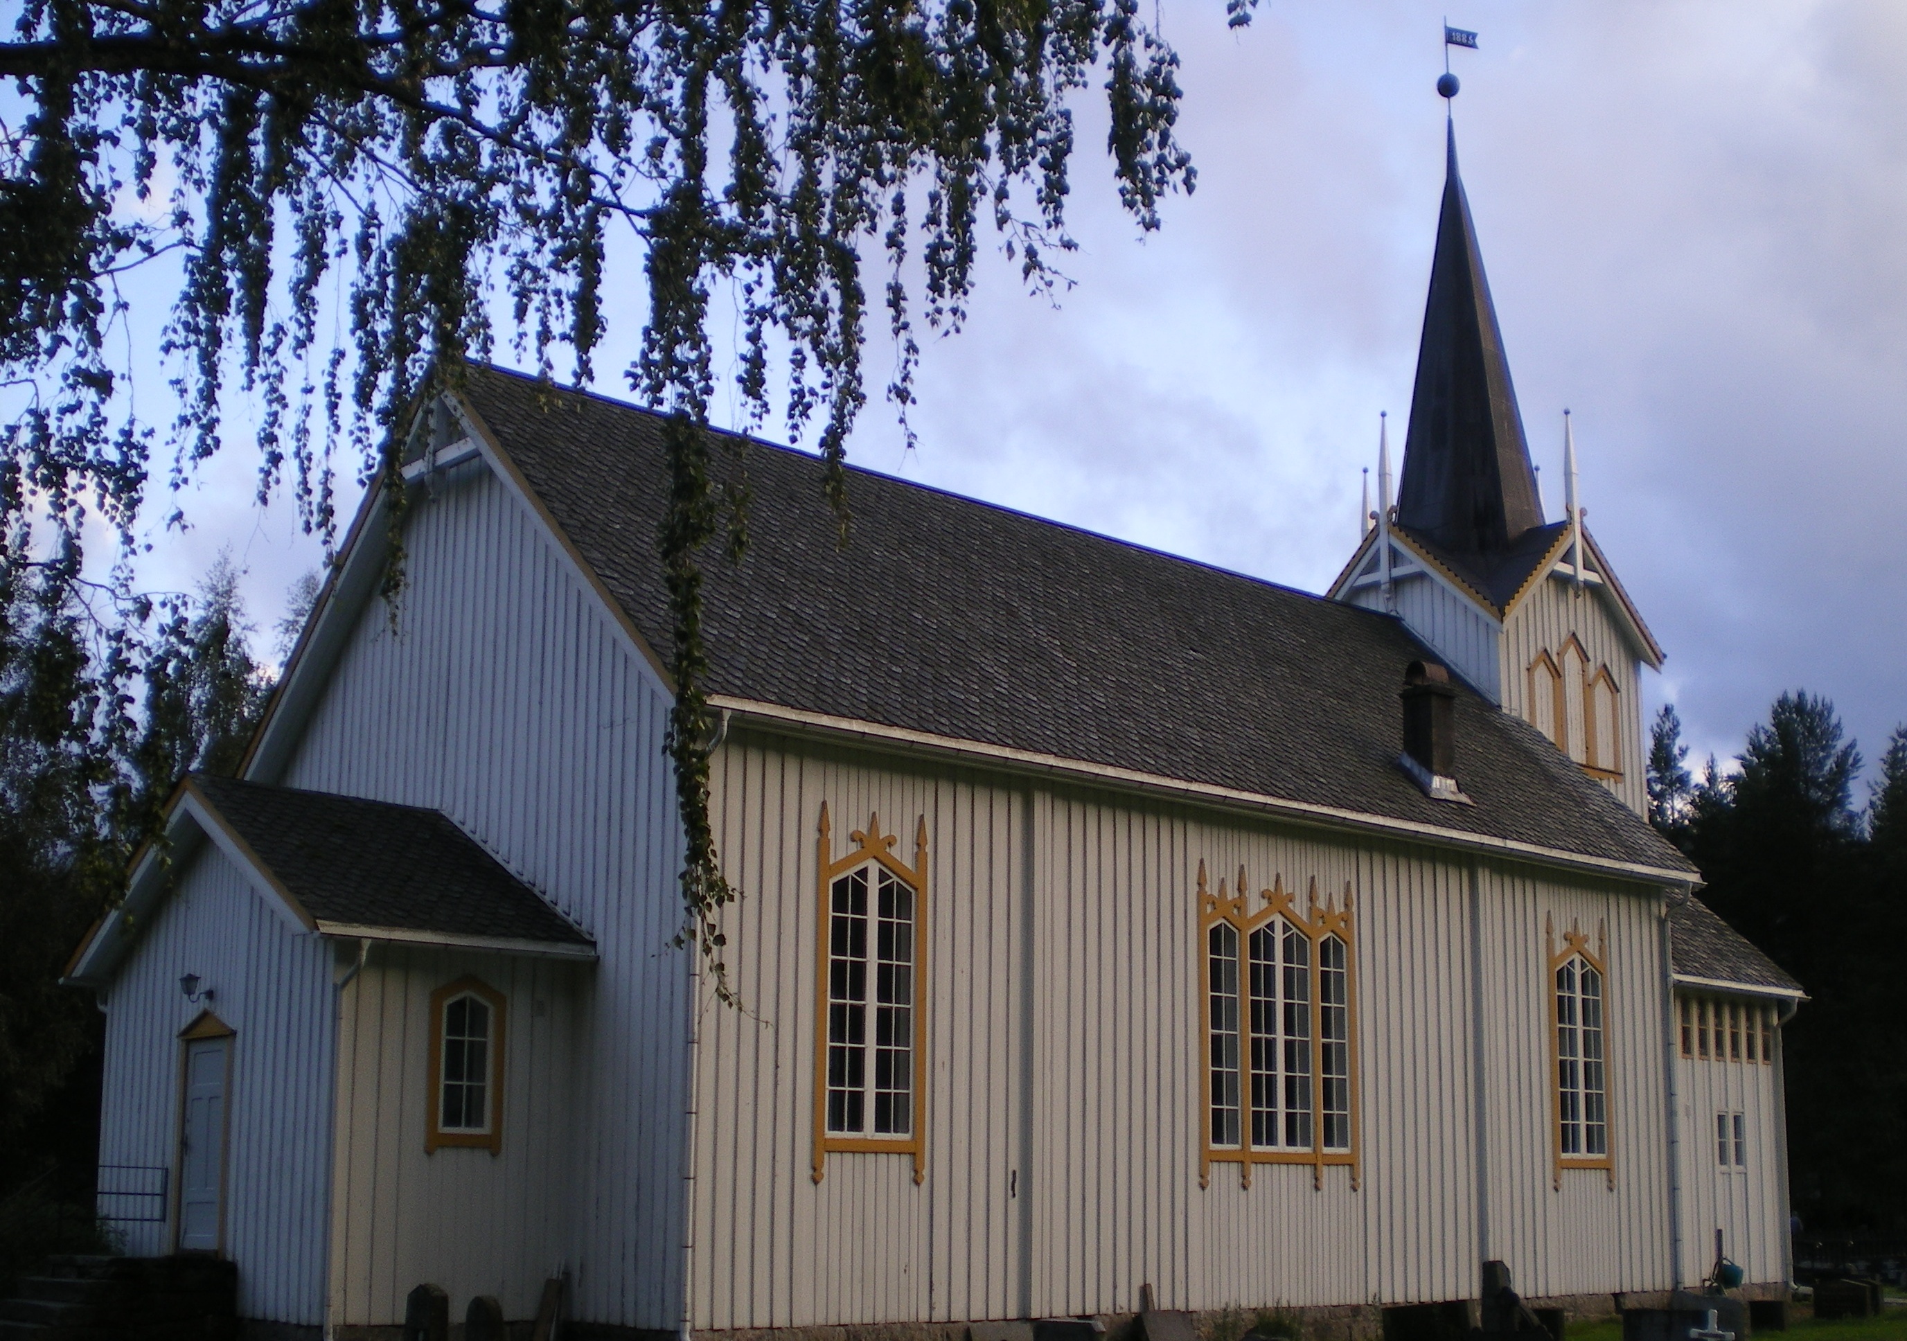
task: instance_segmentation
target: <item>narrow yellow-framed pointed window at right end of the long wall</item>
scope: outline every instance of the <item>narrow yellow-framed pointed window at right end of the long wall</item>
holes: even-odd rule
[[[1596,950],[1575,925],[1564,933],[1560,950],[1554,921],[1547,923],[1547,935],[1554,1181],[1560,1188],[1564,1169],[1604,1169],[1613,1186],[1606,933],[1598,929]]]

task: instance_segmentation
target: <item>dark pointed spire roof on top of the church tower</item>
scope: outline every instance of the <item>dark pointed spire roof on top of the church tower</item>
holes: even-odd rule
[[[1455,128],[1417,349],[1398,525],[1451,553],[1497,553],[1543,525],[1503,332],[1457,175]]]

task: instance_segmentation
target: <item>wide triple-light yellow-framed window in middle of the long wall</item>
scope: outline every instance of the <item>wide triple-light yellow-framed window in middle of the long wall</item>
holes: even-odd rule
[[[1238,872],[1207,891],[1200,862],[1200,988],[1205,1040],[1205,1154],[1238,1164],[1251,1186],[1255,1164],[1346,1164],[1358,1185],[1356,990],[1350,885],[1343,908],[1318,904],[1318,881],[1301,912],[1283,879],[1251,906]]]

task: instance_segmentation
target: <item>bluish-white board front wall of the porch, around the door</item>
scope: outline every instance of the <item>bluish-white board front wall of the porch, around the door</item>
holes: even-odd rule
[[[179,1183],[179,1032],[200,1009],[236,1030],[225,1095],[225,1253],[238,1310],[324,1322],[324,1207],[334,1057],[332,950],[294,931],[214,845],[191,858],[107,998],[99,1162],[170,1169],[164,1225],[126,1225],[126,1251],[170,1253]],[[214,1000],[193,1005],[179,977]]]

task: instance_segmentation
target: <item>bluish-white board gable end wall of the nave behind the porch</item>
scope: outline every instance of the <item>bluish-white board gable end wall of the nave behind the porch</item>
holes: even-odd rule
[[[572,1213],[547,1230],[538,1272],[570,1269],[580,1320],[673,1330],[690,965],[667,946],[681,864],[662,755],[667,696],[528,505],[481,462],[435,481],[404,542],[395,618],[381,601],[366,605],[284,776],[269,780],[441,809],[595,939],[601,965],[580,1007],[591,1064],[568,1129],[549,1135],[576,1152]],[[364,1103],[423,1083],[389,1055],[355,1064],[366,1068],[366,1085],[353,1087]],[[362,1186],[402,1215],[381,1232],[406,1242],[431,1238],[461,1196],[441,1192],[399,1202]],[[372,1259],[395,1270],[389,1251]],[[414,1284],[339,1288],[351,1307],[383,1309]]]

